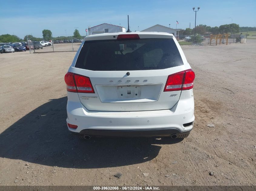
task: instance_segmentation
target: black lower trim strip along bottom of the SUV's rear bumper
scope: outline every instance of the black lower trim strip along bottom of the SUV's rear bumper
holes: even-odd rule
[[[72,132],[77,135],[89,135],[91,137],[166,137],[177,135],[178,138],[184,138],[191,130],[180,131],[176,128],[166,129],[139,129],[139,130],[102,130],[102,129],[84,129],[81,132]]]

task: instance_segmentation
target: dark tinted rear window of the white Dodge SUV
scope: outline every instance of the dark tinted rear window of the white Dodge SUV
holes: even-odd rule
[[[183,65],[173,39],[85,41],[75,67],[94,71],[156,70]]]

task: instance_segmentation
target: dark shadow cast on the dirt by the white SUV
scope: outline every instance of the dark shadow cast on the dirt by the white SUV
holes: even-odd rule
[[[0,157],[66,168],[104,168],[154,159],[171,138],[80,140],[66,126],[67,97],[49,100],[0,134]],[[86,123],[86,122],[85,122]],[[159,145],[153,145],[159,144]]]

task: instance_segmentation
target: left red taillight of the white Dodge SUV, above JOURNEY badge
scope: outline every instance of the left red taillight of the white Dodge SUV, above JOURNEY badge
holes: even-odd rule
[[[90,78],[68,72],[65,75],[67,91],[78,93],[94,93]]]

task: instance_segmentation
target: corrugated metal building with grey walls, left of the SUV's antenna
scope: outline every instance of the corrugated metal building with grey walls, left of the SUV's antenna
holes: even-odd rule
[[[125,32],[125,27],[118,25],[103,23],[94,27],[88,28],[89,35],[91,34],[101,34],[101,33],[118,33]]]

